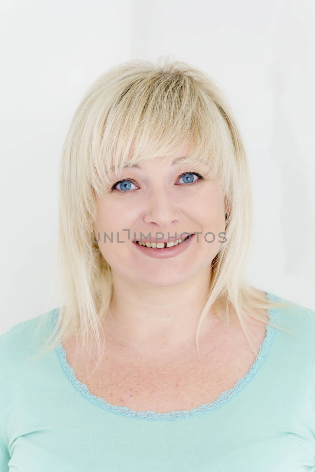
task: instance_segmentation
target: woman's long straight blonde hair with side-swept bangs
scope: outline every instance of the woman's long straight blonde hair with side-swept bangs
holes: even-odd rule
[[[184,62],[168,57],[157,63],[132,60],[112,67],[92,85],[65,139],[57,254],[61,306],[55,329],[38,355],[75,335],[77,349],[79,338],[83,351],[96,346],[98,367],[113,280],[110,265],[91,237],[97,196],[107,191],[126,164],[171,156],[188,135],[193,143],[189,162],[211,169],[223,186],[226,205],[227,242],[212,262],[209,294],[196,332],[197,351],[200,326],[211,307],[223,307],[224,316],[218,316],[226,322],[233,311],[255,351],[246,319],[267,324],[261,310],[293,303],[266,299],[245,277],[251,184],[243,143],[225,96],[208,76]]]

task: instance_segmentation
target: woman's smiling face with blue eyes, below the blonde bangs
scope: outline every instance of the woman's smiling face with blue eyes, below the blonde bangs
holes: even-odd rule
[[[172,165],[187,151],[185,144],[171,158],[124,169],[119,176],[124,182],[112,182],[111,192],[98,199],[94,233],[114,278],[165,287],[210,270],[224,244],[224,196],[213,180],[202,179],[197,165]],[[141,233],[144,242],[150,242],[150,235],[153,243],[167,242],[170,236],[174,245],[144,247],[134,242]],[[187,241],[175,244],[181,235]]]

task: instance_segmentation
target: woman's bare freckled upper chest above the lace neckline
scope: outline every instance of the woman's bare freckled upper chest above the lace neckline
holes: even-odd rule
[[[251,332],[258,353],[266,327],[255,325]],[[92,395],[111,405],[160,413],[193,410],[214,402],[248,373],[257,356],[240,330],[221,333],[216,342],[209,339],[202,346],[200,359],[192,350],[148,362],[145,354],[134,357],[110,346],[110,354],[94,372],[92,364],[74,358],[71,342],[63,348],[77,379]]]

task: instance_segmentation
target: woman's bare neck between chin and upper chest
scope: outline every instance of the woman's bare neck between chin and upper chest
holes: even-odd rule
[[[196,346],[197,324],[209,294],[209,269],[183,283],[160,287],[115,277],[108,338],[130,352],[165,352]],[[199,330],[199,340],[216,325],[213,311]]]

